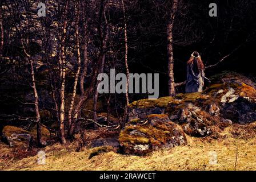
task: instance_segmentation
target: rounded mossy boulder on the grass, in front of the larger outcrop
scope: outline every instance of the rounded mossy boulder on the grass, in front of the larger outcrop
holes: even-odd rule
[[[186,144],[181,128],[166,114],[148,115],[146,121],[131,121],[119,134],[119,142],[126,154],[145,155],[161,147]]]

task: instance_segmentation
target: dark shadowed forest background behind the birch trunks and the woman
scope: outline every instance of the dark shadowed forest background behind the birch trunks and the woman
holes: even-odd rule
[[[37,15],[39,2],[46,4],[46,17]],[[81,48],[81,70],[85,70],[85,67],[87,69],[84,83],[86,93],[93,93],[95,85],[91,83],[95,82],[93,80],[95,71],[100,72],[98,61],[102,55],[106,56],[103,72],[109,73],[110,68],[115,68],[117,73],[126,73],[123,36],[125,22],[127,22],[129,72],[159,73],[159,97],[168,96],[166,24],[172,13],[173,1],[124,1],[126,20],[123,16],[122,3],[118,0],[70,1],[66,7],[67,2],[1,1],[3,48],[0,65],[0,114],[2,127],[7,122],[21,125],[27,122],[26,118],[33,118],[35,115],[34,92],[29,86],[31,85],[29,60],[32,60],[35,72],[40,122],[45,125],[60,122],[59,90],[61,90],[62,80],[58,76],[61,69],[58,57],[62,55],[61,47],[65,49],[63,53],[66,56],[66,119],[64,122],[67,122],[67,112],[78,68],[77,38]],[[209,16],[209,4],[212,2],[218,6],[217,17]],[[79,17],[76,22],[77,10]],[[175,82],[186,80],[186,61],[189,60],[193,51],[201,54],[206,67],[225,58],[215,67],[206,69],[207,77],[222,71],[234,71],[255,80],[255,10],[256,1],[251,0],[178,1],[173,22]],[[63,35],[65,20],[67,30]],[[75,34],[76,30],[78,35]],[[103,39],[107,31],[109,31],[109,38],[104,48]],[[87,65],[83,62],[86,59],[83,52],[85,44],[87,44]],[[26,56],[24,49],[30,57]],[[79,89],[79,83],[77,87],[74,110],[78,109],[79,116],[85,117],[88,113],[83,113],[81,108],[76,107],[79,100],[85,96]],[[55,103],[53,92],[57,100]],[[177,87],[176,92],[184,92],[183,86]],[[93,94],[87,94],[82,105],[87,103],[87,106],[92,106],[93,97]],[[147,98],[147,95],[129,95],[130,102],[141,98]],[[125,113],[125,99],[125,94],[102,94],[98,98],[102,103],[101,106],[97,106],[96,110],[95,107],[90,108],[97,113],[105,111],[122,120],[120,115]],[[55,106],[58,109],[55,109]],[[75,113],[72,117],[74,115]],[[66,126],[65,129],[69,130]]]

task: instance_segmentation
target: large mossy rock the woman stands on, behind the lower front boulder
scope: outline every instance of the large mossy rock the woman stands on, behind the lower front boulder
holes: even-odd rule
[[[139,100],[130,104],[130,123],[146,121],[150,114],[167,114],[193,137],[205,137],[232,123],[256,120],[255,83],[237,73],[221,73],[201,93],[179,93],[175,97]]]

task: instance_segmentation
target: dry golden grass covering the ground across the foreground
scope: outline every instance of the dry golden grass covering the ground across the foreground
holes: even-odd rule
[[[246,129],[255,129],[255,126],[251,123]],[[110,151],[89,159],[93,149],[75,152],[74,144],[53,144],[43,148],[45,165],[39,165],[35,155],[19,160],[0,159],[0,170],[256,170],[254,132],[236,128],[227,127],[217,139],[188,137],[186,146],[162,149],[146,156]],[[210,164],[213,151],[217,154],[217,163]]]

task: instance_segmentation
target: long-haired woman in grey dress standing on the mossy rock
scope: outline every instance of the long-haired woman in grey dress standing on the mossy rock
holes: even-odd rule
[[[201,56],[197,51],[191,54],[189,61],[187,61],[187,82],[186,82],[186,93],[190,92],[202,92],[205,80],[209,81],[205,77],[205,66]]]

